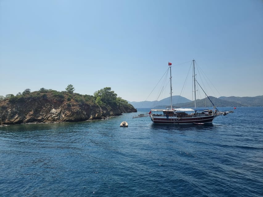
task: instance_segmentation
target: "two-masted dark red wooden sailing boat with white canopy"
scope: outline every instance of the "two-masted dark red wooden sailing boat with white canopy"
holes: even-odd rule
[[[193,77],[194,77],[194,94],[195,94],[195,108],[172,108],[172,81],[171,81],[171,65],[172,63],[168,62],[168,66],[170,68],[170,86],[171,86],[171,109],[151,109],[149,112],[150,118],[154,124],[205,124],[212,123],[213,119],[218,116],[224,114],[224,112],[220,112],[216,106],[212,103],[208,95],[204,92],[203,88],[199,85],[199,83],[195,79],[195,60],[193,60]],[[201,87],[203,92],[206,94],[208,99],[213,105],[213,110],[200,110],[196,109],[196,90],[195,90],[195,82]]]

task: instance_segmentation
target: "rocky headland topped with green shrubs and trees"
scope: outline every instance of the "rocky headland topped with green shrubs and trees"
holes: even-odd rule
[[[70,84],[66,91],[47,90],[23,93],[0,101],[0,124],[60,123],[105,119],[137,110],[105,87],[94,95],[73,93]]]

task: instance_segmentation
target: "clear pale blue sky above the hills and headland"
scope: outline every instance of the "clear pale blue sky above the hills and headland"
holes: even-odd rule
[[[0,0],[3,96],[72,84],[144,101],[168,62],[179,95],[193,58],[213,96],[263,95],[263,1]]]

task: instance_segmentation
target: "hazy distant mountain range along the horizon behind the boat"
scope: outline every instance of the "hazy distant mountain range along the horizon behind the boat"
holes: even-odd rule
[[[255,97],[221,96],[219,98],[209,97],[216,107],[263,107],[263,95]],[[182,96],[172,96],[173,107],[195,107],[194,101]],[[135,108],[166,108],[170,106],[170,97],[160,101],[129,102]],[[196,107],[212,107],[208,98],[197,99]]]

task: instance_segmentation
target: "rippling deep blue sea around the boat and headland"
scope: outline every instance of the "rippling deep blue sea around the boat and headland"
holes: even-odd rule
[[[263,107],[210,125],[107,120],[0,127],[0,196],[263,196]],[[126,121],[129,127],[120,127]]]

